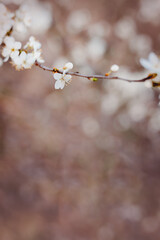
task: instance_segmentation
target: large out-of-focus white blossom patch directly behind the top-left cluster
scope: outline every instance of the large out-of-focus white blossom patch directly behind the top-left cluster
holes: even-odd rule
[[[20,1],[14,0],[16,4],[22,4],[16,11],[14,36],[24,40],[30,34],[45,33],[53,22],[51,4],[38,0]]]

